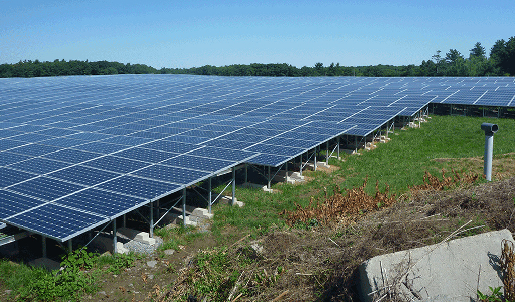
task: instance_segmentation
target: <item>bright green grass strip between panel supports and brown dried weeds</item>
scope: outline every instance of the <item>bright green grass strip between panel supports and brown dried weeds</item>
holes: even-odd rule
[[[258,189],[236,188],[236,196],[245,203],[245,207],[216,205],[213,232],[223,240],[224,229],[227,227],[256,230],[284,225],[278,213],[284,209],[294,209],[294,203],[306,206],[311,196],[323,196],[324,187],[332,194],[336,186],[351,189],[361,186],[365,178],[368,178],[365,190],[368,194],[374,193],[375,182],[379,181],[380,190],[384,190],[388,183],[390,193],[399,196],[408,191],[408,185],[421,184],[425,171],[440,177],[442,168],[450,170],[450,162],[432,159],[483,157],[485,135],[480,125],[484,122],[499,125],[499,132],[494,136],[494,156],[515,152],[514,120],[433,116],[421,128],[396,130],[399,135],[390,133],[392,140],[386,144],[378,144],[371,152],[345,155],[344,161],[331,159],[330,164],[340,168],[332,174],[324,171],[305,172],[314,177],[311,182],[295,186],[274,184],[272,188],[280,192],[273,194]],[[480,165],[482,171],[482,163]]]

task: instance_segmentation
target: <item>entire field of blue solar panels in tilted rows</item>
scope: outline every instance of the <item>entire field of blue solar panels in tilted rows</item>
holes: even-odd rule
[[[278,166],[433,103],[515,106],[512,77],[0,79],[0,221],[65,241],[242,162]]]

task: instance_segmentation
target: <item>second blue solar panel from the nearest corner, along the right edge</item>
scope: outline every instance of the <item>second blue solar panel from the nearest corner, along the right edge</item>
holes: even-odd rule
[[[148,199],[130,197],[94,188],[80,191],[56,201],[56,204],[59,205],[107,216],[111,219],[147,203]]]

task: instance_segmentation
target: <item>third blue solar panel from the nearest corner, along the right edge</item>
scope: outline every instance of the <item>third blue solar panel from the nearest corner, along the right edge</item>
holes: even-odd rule
[[[161,196],[165,196],[182,189],[182,186],[179,184],[130,175],[98,184],[96,187],[145,199],[159,199]]]

